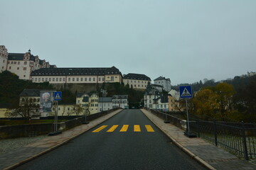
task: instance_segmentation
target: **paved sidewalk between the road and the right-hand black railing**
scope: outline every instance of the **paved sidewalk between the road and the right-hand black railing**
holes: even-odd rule
[[[170,123],[164,123],[164,120],[157,117],[150,111],[141,109],[146,117],[151,120],[162,132],[164,132],[175,145],[180,147],[188,155],[196,159],[208,169],[256,169],[256,165],[246,160],[239,159],[233,154],[226,152],[220,147],[215,147],[205,140],[195,137],[188,138],[184,135],[184,130],[171,125]]]

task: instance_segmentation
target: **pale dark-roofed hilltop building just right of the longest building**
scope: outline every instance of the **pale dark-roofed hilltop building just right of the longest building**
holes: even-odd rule
[[[129,87],[133,89],[146,89],[148,82],[151,82],[151,79],[144,74],[133,74],[129,73],[124,75],[124,85],[129,84]]]

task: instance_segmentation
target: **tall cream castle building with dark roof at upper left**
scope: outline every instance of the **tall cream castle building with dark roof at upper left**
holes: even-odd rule
[[[9,53],[6,70],[18,76],[19,79],[31,79],[31,72],[40,68],[56,67],[38,56],[31,55],[31,50],[26,53]]]

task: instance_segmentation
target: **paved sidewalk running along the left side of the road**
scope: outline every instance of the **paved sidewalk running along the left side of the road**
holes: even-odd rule
[[[24,164],[31,161],[32,159],[35,159],[36,157],[41,156],[42,154],[46,154],[47,152],[50,152],[56,147],[60,147],[61,145],[64,145],[70,140],[73,140],[75,137],[78,137],[87,130],[94,128],[105,120],[112,118],[112,116],[116,115],[120,111],[122,111],[122,109],[92,120],[87,125],[79,125],[70,130],[63,131],[63,133],[60,135],[47,136],[42,140],[33,142],[20,149],[0,154],[0,169],[14,169],[21,164]]]

